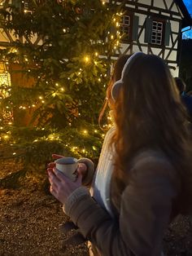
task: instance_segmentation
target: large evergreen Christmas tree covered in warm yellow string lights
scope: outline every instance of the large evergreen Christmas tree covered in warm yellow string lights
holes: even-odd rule
[[[20,152],[32,163],[63,151],[97,158],[103,140],[98,113],[119,48],[120,6],[13,0],[2,2],[0,15],[10,39],[0,42],[11,76],[0,85],[1,143],[13,148],[10,157]]]

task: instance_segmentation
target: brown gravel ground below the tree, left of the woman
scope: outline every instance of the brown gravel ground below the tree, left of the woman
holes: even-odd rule
[[[0,255],[88,255],[84,244],[65,248],[68,221],[58,201],[37,190],[0,191]]]

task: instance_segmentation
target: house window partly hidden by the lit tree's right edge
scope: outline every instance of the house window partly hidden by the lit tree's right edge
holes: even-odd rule
[[[120,35],[123,35],[122,42],[131,39],[131,16],[124,15],[120,20]]]

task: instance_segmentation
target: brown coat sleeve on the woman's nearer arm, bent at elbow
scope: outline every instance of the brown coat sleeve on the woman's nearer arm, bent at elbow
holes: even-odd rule
[[[169,165],[151,162],[135,166],[121,196],[119,223],[88,192],[75,193],[66,214],[102,255],[160,256],[172,201],[177,196]]]

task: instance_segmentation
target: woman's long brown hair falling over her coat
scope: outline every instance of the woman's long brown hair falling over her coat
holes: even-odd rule
[[[142,148],[164,152],[181,177],[183,191],[192,196],[190,131],[185,108],[168,66],[156,55],[134,61],[114,108],[116,178],[123,179],[129,161]]]

